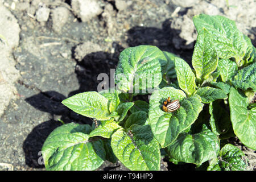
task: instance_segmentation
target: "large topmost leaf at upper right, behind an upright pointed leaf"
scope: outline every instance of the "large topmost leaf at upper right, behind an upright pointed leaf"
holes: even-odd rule
[[[247,43],[233,20],[224,16],[200,14],[193,17],[193,22],[199,35],[202,28],[210,32],[213,38],[213,46],[216,48],[220,59],[234,57],[237,65],[241,66],[241,60],[246,53]]]

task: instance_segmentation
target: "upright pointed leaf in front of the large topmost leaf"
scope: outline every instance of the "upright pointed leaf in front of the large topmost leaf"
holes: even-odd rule
[[[212,35],[205,28],[199,32],[196,39],[192,65],[196,71],[196,77],[200,80],[207,80],[218,65],[218,55],[212,41]]]

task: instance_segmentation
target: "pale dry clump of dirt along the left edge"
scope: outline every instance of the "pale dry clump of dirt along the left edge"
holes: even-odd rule
[[[12,99],[16,98],[14,83],[19,78],[12,52],[18,46],[20,28],[14,15],[0,4],[0,115]]]

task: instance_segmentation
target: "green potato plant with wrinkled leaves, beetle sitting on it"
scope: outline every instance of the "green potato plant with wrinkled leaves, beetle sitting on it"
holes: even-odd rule
[[[62,102],[97,125],[53,130],[42,148],[47,170],[94,170],[105,160],[159,170],[161,154],[175,164],[246,170],[245,155],[227,139],[237,136],[256,150],[255,48],[233,20],[200,14],[193,22],[193,68],[155,46],[130,47],[119,56],[115,88]],[[149,103],[134,101],[140,94],[150,95]],[[168,97],[179,100],[178,109],[163,110]]]

